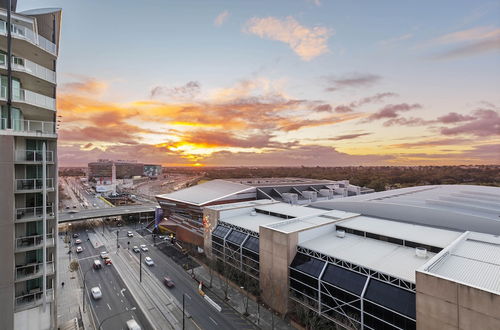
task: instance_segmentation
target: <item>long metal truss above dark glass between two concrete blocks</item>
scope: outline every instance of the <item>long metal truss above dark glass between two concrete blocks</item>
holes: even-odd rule
[[[327,255],[324,255],[320,252],[313,251],[313,250],[310,250],[310,249],[307,249],[307,248],[304,248],[301,246],[297,246],[297,252],[309,255],[309,256],[316,258],[316,259],[321,259],[321,260],[327,261],[331,264],[340,266],[340,267],[345,268],[345,269],[352,270],[354,272],[357,272],[357,273],[360,273],[360,274],[363,274],[366,276],[371,276],[375,279],[378,279],[382,282],[392,284],[392,285],[397,286],[401,289],[415,292],[415,287],[416,287],[415,283],[411,283],[411,282],[402,280],[400,278],[375,271],[375,270],[370,269],[370,268],[362,267],[362,266],[356,265],[354,263],[351,263],[351,262],[348,262],[348,261],[345,261],[342,259],[327,256]]]

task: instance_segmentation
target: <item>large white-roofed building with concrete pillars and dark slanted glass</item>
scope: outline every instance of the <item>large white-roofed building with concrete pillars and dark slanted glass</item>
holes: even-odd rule
[[[281,315],[305,308],[325,328],[498,329],[499,215],[500,188],[482,186],[245,201],[204,209],[204,250]]]

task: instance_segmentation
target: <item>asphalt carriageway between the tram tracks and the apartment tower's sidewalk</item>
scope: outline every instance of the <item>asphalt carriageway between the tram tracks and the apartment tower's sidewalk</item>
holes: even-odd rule
[[[94,260],[99,259],[102,262],[99,253],[104,248],[95,249],[87,240],[88,236],[85,231],[80,231],[79,235],[82,240],[80,246],[83,247],[83,252],[78,253],[77,258],[80,262],[82,274],[86,273],[86,308],[89,308],[88,302],[90,301],[97,327],[100,322],[104,322],[102,325],[104,330],[126,329],[126,322],[133,318],[143,329],[149,329],[149,322],[137,302],[128,292],[114,266],[105,266],[103,262],[102,269],[95,270],[92,268]],[[73,242],[75,239],[72,238],[71,240]],[[102,298],[99,300],[94,300],[90,294],[90,289],[95,286],[98,286],[102,292]],[[133,307],[137,309],[131,311]],[[127,312],[116,315],[123,311]],[[111,318],[106,320],[108,317]]]

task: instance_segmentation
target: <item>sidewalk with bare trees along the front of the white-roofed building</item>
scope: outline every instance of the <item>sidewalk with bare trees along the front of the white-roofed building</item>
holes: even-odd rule
[[[203,281],[203,290],[209,297],[216,295],[221,300],[224,300],[224,291],[221,288],[221,281],[219,280],[218,274],[214,272],[212,279],[212,288],[208,288],[208,285],[210,283],[210,273],[208,272],[206,266],[204,266],[202,263],[200,264],[202,266],[196,267],[194,269],[194,273],[197,280]],[[245,302],[247,299],[245,292],[235,288],[233,285],[230,285],[228,290],[228,298],[228,305],[230,305],[240,314],[245,313]],[[251,298],[248,299],[248,313],[250,315],[246,318],[257,325],[259,328],[266,330],[273,329],[273,317],[271,315],[271,311],[266,309],[262,305],[257,307],[257,302],[253,301]],[[292,329],[292,327],[279,316],[274,315],[274,329],[289,330]]]

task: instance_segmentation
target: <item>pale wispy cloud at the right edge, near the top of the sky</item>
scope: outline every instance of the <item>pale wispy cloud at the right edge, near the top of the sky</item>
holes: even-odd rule
[[[500,28],[481,26],[446,34],[431,41],[431,44],[457,45],[430,56],[444,60],[500,51]]]

